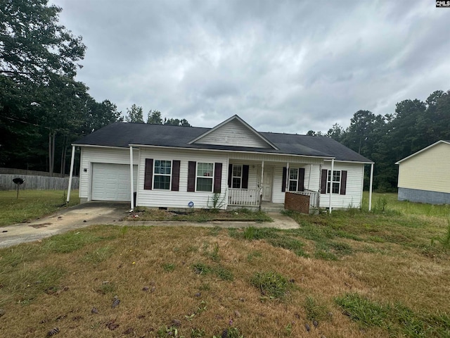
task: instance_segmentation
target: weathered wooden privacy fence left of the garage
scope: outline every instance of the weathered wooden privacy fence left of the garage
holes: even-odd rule
[[[67,190],[69,177],[50,177],[39,175],[0,174],[0,190],[14,190],[17,185],[13,182],[15,177],[20,177],[25,182],[20,189],[28,190]],[[79,177],[72,177],[73,190],[79,187]]]

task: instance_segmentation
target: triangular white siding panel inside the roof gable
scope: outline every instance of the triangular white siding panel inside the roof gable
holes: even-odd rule
[[[238,120],[231,120],[210,132],[195,143],[217,144],[223,146],[249,146],[252,148],[271,148],[267,142],[248,129]]]

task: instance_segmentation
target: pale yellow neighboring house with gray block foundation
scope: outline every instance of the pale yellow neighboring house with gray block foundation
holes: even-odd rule
[[[450,141],[438,141],[395,164],[399,201],[450,204]]]

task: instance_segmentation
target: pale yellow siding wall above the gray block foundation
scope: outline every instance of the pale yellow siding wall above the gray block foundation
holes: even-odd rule
[[[401,161],[398,186],[450,193],[450,144],[436,144]]]

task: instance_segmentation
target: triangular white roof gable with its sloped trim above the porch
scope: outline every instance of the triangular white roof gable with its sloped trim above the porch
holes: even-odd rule
[[[219,146],[245,146],[249,148],[277,149],[266,137],[245,123],[238,115],[213,127],[193,139],[189,144],[211,144]]]

